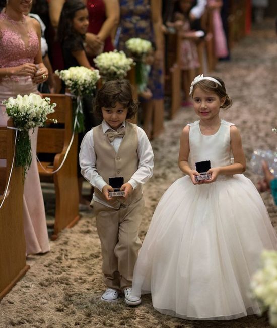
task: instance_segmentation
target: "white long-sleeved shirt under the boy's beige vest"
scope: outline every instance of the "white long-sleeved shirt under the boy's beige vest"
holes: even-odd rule
[[[125,127],[126,123],[123,122],[122,125]],[[102,121],[103,133],[108,129],[112,129],[106,121]],[[113,129],[112,129],[113,130]],[[138,168],[131,176],[130,180],[127,181],[133,189],[135,189],[138,184],[144,184],[150,179],[153,175],[154,167],[154,154],[150,144],[150,141],[140,127],[137,127],[137,138],[138,138],[138,147],[137,147],[137,156],[138,156]],[[117,152],[119,146],[122,142],[121,137],[116,137],[111,142],[115,151]],[[81,143],[81,150],[79,153],[79,161],[81,167],[81,174],[85,177],[89,183],[95,188],[102,191],[103,187],[107,184],[104,179],[98,174],[96,169],[96,155],[94,150],[94,141],[93,141],[93,129],[90,130],[84,137]],[[98,199],[95,194],[93,199],[102,203],[101,199]],[[107,205],[105,203],[105,205]]]

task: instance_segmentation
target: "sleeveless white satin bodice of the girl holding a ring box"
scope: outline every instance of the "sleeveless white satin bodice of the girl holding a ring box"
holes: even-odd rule
[[[221,120],[218,131],[213,135],[203,135],[199,121],[188,124],[189,130],[189,163],[195,169],[195,162],[210,160],[211,167],[231,164],[232,151],[230,142],[230,126],[233,123]]]

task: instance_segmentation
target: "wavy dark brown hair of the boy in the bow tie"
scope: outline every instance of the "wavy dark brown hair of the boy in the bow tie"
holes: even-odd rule
[[[132,119],[135,116],[138,102],[133,100],[132,86],[128,80],[107,81],[94,98],[93,112],[103,120],[102,107],[114,108],[117,102],[127,108],[126,119]]]

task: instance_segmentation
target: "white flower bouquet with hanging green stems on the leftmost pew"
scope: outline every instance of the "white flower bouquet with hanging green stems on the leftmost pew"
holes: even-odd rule
[[[24,176],[32,163],[32,149],[29,130],[44,125],[47,115],[55,112],[55,103],[50,104],[50,98],[42,99],[40,95],[30,93],[29,95],[18,95],[4,100],[6,113],[14,120],[15,128],[18,130],[16,140],[16,166],[24,167]],[[56,120],[52,120],[56,123]]]

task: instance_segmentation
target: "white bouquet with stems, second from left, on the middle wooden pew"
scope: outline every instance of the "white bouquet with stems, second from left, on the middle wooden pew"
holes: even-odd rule
[[[74,131],[79,133],[85,130],[83,114],[83,96],[92,95],[96,89],[97,81],[100,79],[98,70],[91,70],[84,66],[70,67],[68,70],[55,71],[55,74],[70,89],[71,94],[76,99]]]

